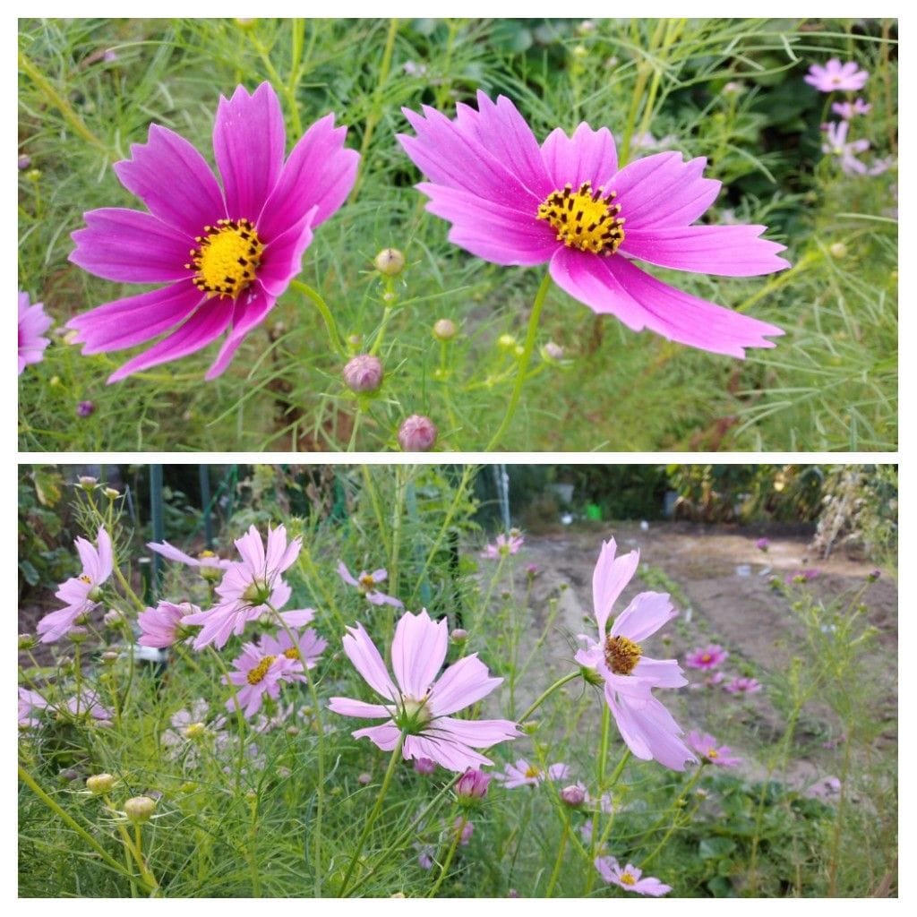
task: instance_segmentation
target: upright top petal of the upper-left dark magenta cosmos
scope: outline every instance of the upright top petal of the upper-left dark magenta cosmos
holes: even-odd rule
[[[285,146],[281,105],[271,83],[261,83],[251,95],[238,86],[231,99],[220,96],[214,155],[233,219],[257,221],[280,177]]]

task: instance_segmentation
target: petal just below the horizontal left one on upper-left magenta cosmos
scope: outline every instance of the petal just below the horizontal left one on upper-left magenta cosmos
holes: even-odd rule
[[[191,315],[204,296],[190,280],[171,283],[150,293],[96,306],[75,315],[67,327],[76,329],[77,342],[85,345],[84,355],[135,347]]]

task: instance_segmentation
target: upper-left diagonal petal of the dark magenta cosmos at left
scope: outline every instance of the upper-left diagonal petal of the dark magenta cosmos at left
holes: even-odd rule
[[[131,159],[115,163],[115,172],[149,212],[194,238],[226,217],[226,204],[204,157],[168,127],[149,126],[146,143],[132,144]]]

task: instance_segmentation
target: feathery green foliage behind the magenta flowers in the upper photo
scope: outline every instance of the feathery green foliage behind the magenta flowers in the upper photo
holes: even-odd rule
[[[348,146],[363,153],[357,190],[320,227],[300,275],[325,297],[341,336],[355,336],[353,352],[381,335],[386,289],[374,255],[395,246],[408,261],[378,341],[386,377],[374,399],[358,402],[345,388],[315,305],[291,288],[214,382],[202,380],[215,345],[106,386],[126,355],[83,358],[54,337],[20,379],[22,449],[387,449],[414,413],[434,419],[437,448],[487,447],[518,369],[495,342],[508,334],[521,343],[543,274],[450,246],[394,138],[408,129],[401,106],[451,112],[478,89],[513,98],[538,138],[585,119],[610,127],[622,148],[649,131],[708,157],[708,174],[725,184],[712,218],[767,224],[794,265],[749,280],[654,270],[786,329],[776,348],[745,361],[635,335],[552,289],[533,378],[495,446],[896,447],[895,170],[849,177],[825,160],[824,99],[801,82],[812,61],[859,61],[874,108],[857,129],[875,155],[894,154],[893,24],[864,32],[833,20],[23,20],[19,47],[19,145],[32,160],[20,173],[19,286],[59,329],[137,291],[67,261],[84,211],[137,204],[112,162],[154,122],[209,159],[217,99],[238,83],[270,80],[278,90],[288,149],[334,111]],[[101,60],[106,49],[116,61]],[[739,92],[724,91],[731,82]],[[836,242],[845,257],[829,254]],[[431,334],[441,317],[459,327],[445,357]],[[549,340],[565,348],[564,365],[538,355]],[[83,400],[94,402],[89,417],[76,415]]]

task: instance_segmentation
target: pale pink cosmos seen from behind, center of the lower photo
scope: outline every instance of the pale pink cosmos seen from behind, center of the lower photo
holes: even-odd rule
[[[362,624],[348,627],[344,652],[366,679],[381,703],[364,703],[346,697],[331,698],[328,706],[344,716],[387,719],[380,726],[358,729],[354,738],[366,736],[383,751],[392,751],[404,735],[404,760],[427,757],[447,770],[464,771],[492,764],[474,748],[490,748],[520,735],[509,720],[459,720],[452,713],[486,697],[503,679],[489,677],[477,654],[462,657],[437,678],[446,660],[447,622],[432,621],[426,611],[404,613],[392,640],[392,670]]]

